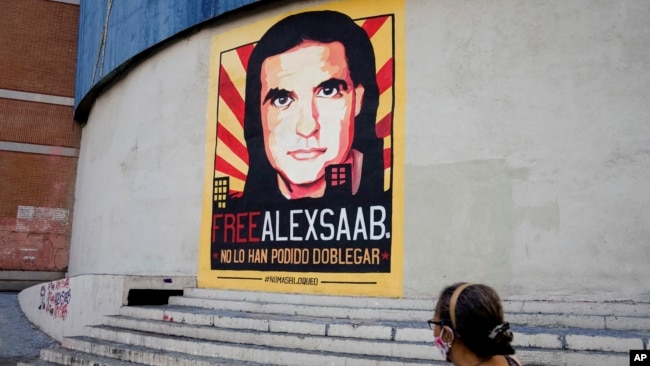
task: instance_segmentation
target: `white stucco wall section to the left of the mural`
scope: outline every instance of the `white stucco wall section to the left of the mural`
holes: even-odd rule
[[[196,274],[209,35],[144,61],[82,131],[71,275]]]

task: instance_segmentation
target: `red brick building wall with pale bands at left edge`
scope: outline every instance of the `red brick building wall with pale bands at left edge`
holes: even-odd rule
[[[0,0],[0,89],[74,95],[79,6]],[[0,142],[79,148],[72,107],[0,98]],[[77,158],[0,145],[0,270],[68,266]],[[9,146],[5,144],[4,146]],[[13,146],[13,145],[12,145]],[[64,219],[18,218],[19,206],[62,209]]]

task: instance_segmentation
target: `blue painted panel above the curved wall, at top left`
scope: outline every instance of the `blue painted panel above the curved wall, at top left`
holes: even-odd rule
[[[259,0],[81,0],[75,118],[84,122],[97,87],[150,47]]]

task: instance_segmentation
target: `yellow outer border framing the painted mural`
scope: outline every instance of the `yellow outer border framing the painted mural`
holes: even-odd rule
[[[221,53],[224,50],[234,49],[241,45],[250,44],[259,40],[264,32],[280,19],[295,13],[312,10],[335,10],[347,14],[352,19],[368,18],[376,15],[392,15],[394,21],[393,58],[393,129],[392,144],[392,233],[391,233],[391,269],[389,273],[324,273],[324,272],[274,272],[274,271],[246,271],[246,270],[212,270],[210,261],[211,252],[211,225],[213,204],[213,177],[215,172],[215,148],[217,137],[214,133],[217,128],[219,68]],[[403,281],[403,254],[404,254],[404,123],[405,123],[405,26],[404,26],[404,1],[374,1],[352,0],[332,2],[317,7],[308,7],[284,13],[279,16],[256,21],[253,24],[224,32],[213,37],[210,52],[209,67],[209,92],[207,101],[206,123],[206,160],[205,178],[201,213],[201,228],[199,236],[199,268],[198,287],[219,288],[233,290],[252,290],[268,292],[292,292],[332,295],[358,295],[358,296],[402,296]],[[389,35],[390,36],[390,35]],[[388,50],[390,52],[390,50]],[[375,53],[378,51],[376,50]],[[243,83],[245,84],[245,83]],[[241,82],[238,85],[242,85]],[[382,108],[380,101],[380,108]],[[384,106],[384,108],[386,108]],[[389,141],[390,143],[390,141]],[[265,281],[250,281],[249,278],[293,278],[286,283],[268,283]],[[229,281],[220,280],[223,278]],[[297,284],[302,278],[303,284]],[[315,281],[314,281],[315,280]],[[282,282],[282,281],[281,281]],[[309,285],[305,285],[308,282]],[[316,284],[314,284],[314,282]]]

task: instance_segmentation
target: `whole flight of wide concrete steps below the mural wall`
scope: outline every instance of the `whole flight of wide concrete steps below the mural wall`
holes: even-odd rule
[[[449,365],[432,345],[432,299],[186,289],[124,306],[19,365]],[[627,365],[647,349],[650,304],[505,302],[531,365]]]

